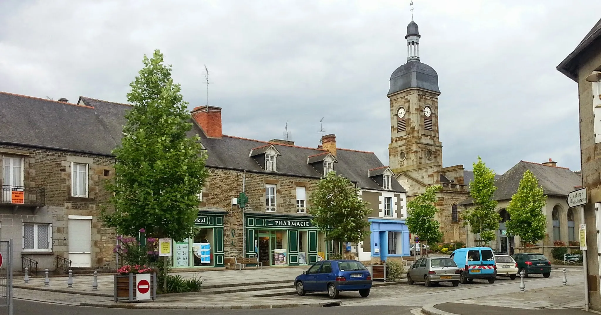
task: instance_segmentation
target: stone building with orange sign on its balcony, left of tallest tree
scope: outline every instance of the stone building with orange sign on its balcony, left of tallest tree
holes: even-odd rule
[[[61,257],[73,268],[115,268],[115,231],[99,211],[120,139],[111,126],[128,107],[0,92],[0,239],[13,239],[16,270],[64,269]]]

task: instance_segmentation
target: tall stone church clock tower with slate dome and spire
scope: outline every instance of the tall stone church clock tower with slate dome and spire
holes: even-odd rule
[[[442,185],[436,207],[443,241],[465,241],[457,204],[469,196],[463,165],[443,167],[439,139],[438,74],[419,61],[418,25],[407,25],[407,62],[390,77],[389,164],[396,179],[407,190],[407,198],[423,193],[430,185]]]

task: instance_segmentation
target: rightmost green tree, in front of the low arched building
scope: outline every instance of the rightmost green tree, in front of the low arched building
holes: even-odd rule
[[[547,218],[541,209],[546,200],[543,187],[538,186],[538,179],[530,170],[526,170],[517,192],[511,196],[507,207],[510,218],[505,222],[507,234],[519,236],[524,251],[526,244],[536,244],[545,238]]]

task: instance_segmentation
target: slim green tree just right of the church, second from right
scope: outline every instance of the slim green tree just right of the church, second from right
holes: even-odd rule
[[[474,163],[474,181],[469,183],[469,194],[474,199],[474,208],[463,212],[463,224],[470,226],[470,232],[480,235],[487,243],[495,239],[495,231],[499,229],[501,216],[496,212],[495,172],[486,167],[478,157]]]

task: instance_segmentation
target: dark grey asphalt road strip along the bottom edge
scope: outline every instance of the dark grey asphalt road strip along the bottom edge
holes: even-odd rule
[[[403,306],[356,306],[356,307],[302,307],[302,308],[263,308],[257,310],[127,310],[124,308],[97,308],[81,307],[72,305],[49,304],[43,302],[32,302],[25,300],[14,300],[14,315],[44,314],[44,315],[109,315],[109,314],[201,314],[201,315],[225,315],[225,314],[260,314],[276,315],[285,313],[303,314],[332,314],[332,315],[410,315],[410,310],[415,307]],[[7,308],[0,307],[0,314],[8,314]]]

